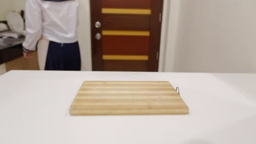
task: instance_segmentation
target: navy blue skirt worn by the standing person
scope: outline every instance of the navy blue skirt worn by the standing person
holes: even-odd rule
[[[60,44],[50,41],[45,70],[81,70],[81,57],[78,42]]]

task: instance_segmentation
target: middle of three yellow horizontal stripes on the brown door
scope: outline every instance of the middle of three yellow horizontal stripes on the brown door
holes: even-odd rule
[[[127,35],[127,36],[150,36],[149,31],[107,31],[103,30],[102,35]]]

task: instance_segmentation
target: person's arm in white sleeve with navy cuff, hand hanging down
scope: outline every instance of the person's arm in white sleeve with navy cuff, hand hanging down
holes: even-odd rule
[[[38,40],[43,33],[42,9],[39,0],[26,1],[26,38],[23,46],[25,58],[31,58],[30,52],[36,51]]]

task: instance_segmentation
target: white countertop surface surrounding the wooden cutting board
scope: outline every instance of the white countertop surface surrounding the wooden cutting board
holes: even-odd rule
[[[189,115],[69,116],[86,80],[170,81]],[[0,76],[0,143],[256,143],[256,74],[10,71]]]

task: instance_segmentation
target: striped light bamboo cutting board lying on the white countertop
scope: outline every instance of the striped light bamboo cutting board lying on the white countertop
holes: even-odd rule
[[[179,115],[189,108],[167,81],[85,81],[70,115]]]

